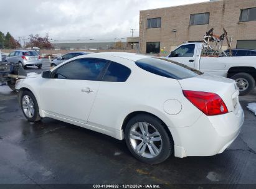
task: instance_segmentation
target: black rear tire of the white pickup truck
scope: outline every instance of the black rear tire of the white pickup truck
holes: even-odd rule
[[[233,76],[230,77],[231,79],[233,80],[239,80],[240,78],[243,79],[243,80],[246,80],[248,82],[248,87],[246,90],[244,91],[240,91],[240,95],[243,96],[243,95],[246,95],[246,94],[249,94],[250,92],[252,92],[255,88],[255,80],[254,78],[252,77],[252,75],[250,75],[249,73],[244,73],[244,72],[241,72],[241,73],[237,73]],[[237,84],[238,88],[239,88],[239,85]]]

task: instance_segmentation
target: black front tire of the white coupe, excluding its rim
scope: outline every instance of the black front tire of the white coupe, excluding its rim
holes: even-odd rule
[[[22,107],[22,99],[25,95],[29,96],[32,99],[33,103],[34,103],[34,115],[31,118],[29,118],[26,115],[26,113],[24,112],[24,109]],[[21,96],[21,99],[20,99],[21,109],[22,109],[22,113],[24,114],[25,118],[30,122],[40,121],[41,118],[40,118],[40,115],[39,115],[39,108],[38,108],[37,100],[36,100],[36,97],[34,96],[34,94],[31,93],[31,91],[25,90],[25,91],[21,91],[21,95],[19,95],[19,96]]]

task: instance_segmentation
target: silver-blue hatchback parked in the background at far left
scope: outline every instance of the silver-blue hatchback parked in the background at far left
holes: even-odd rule
[[[42,68],[42,57],[33,50],[14,50],[6,57],[8,63],[19,63],[24,69],[28,66]]]

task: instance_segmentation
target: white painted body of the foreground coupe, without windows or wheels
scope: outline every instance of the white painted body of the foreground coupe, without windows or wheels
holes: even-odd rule
[[[234,80],[207,74],[183,80],[166,78],[139,68],[135,62],[149,57],[133,53],[94,53],[78,58],[90,57],[125,65],[130,68],[131,75],[120,83],[31,75],[19,80],[16,90],[32,91],[42,118],[69,122],[119,140],[124,139],[123,123],[129,115],[136,112],[153,114],[171,132],[176,157],[221,153],[238,136],[244,112]],[[206,116],[184,96],[183,90],[219,94],[229,113]]]

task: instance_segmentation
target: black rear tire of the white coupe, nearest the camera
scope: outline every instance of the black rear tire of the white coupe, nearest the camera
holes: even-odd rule
[[[156,129],[156,131],[159,132],[161,139],[162,139],[162,144],[161,144],[161,151],[156,157],[143,157],[140,154],[138,154],[133,146],[131,145],[130,141],[130,131],[133,126],[135,126],[136,123],[138,122],[146,122],[150,124],[151,126]],[[150,139],[150,137],[149,137]],[[168,157],[173,154],[173,139],[171,136],[169,136],[168,132],[166,131],[163,123],[155,118],[154,116],[148,115],[148,114],[138,114],[137,116],[133,117],[128,121],[125,127],[125,142],[126,145],[128,146],[128,149],[130,150],[131,154],[133,154],[136,159],[140,160],[141,162],[145,162],[146,164],[160,164],[161,162],[164,162],[164,160],[168,159]],[[142,139],[141,139],[142,142]],[[138,142],[139,143],[139,142]],[[149,144],[149,143],[148,143]],[[146,147],[148,148],[148,147]],[[146,149],[146,150],[149,150]],[[146,152],[146,151],[145,151]]]

